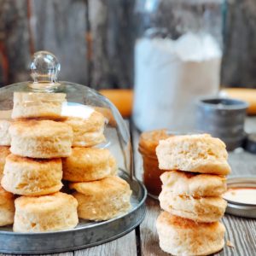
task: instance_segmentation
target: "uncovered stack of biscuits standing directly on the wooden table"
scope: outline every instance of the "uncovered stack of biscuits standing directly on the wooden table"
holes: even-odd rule
[[[160,247],[173,255],[208,255],[224,247],[222,194],[230,173],[225,145],[207,134],[175,136],[156,148],[161,170],[156,221]]]

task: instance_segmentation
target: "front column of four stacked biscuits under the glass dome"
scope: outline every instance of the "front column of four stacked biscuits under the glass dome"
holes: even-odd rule
[[[10,152],[1,184],[15,195],[14,231],[67,230],[78,222],[78,202],[61,193],[61,158],[71,154],[73,131],[61,116],[65,94],[15,92]],[[40,119],[39,119],[40,118]]]

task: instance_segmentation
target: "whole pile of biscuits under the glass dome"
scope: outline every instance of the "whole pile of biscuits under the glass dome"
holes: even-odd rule
[[[79,218],[126,212],[129,184],[114,176],[108,149],[92,148],[104,142],[104,125],[93,108],[69,108],[63,93],[15,92],[12,119],[0,121],[0,225],[14,223],[17,232],[67,230]],[[60,192],[62,178],[72,182],[73,195]]]

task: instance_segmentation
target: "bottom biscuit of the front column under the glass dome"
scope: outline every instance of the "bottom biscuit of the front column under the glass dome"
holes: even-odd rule
[[[15,232],[46,232],[73,229],[78,223],[78,201],[57,192],[43,196],[20,196],[15,200]]]

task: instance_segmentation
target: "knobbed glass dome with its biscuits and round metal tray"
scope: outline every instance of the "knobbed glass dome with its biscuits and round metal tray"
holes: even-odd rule
[[[32,81],[0,89],[0,253],[95,246],[145,216],[124,119],[96,90],[59,82],[60,69],[39,51]]]

